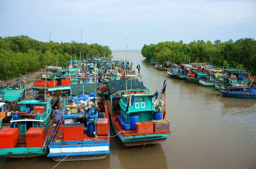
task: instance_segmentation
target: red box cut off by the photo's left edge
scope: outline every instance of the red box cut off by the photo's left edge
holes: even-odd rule
[[[0,149],[14,148],[18,142],[18,128],[3,128],[0,130]]]

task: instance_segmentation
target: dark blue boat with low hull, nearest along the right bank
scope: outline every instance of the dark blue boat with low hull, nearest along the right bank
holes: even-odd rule
[[[222,96],[226,97],[237,97],[237,98],[247,98],[256,99],[256,87],[228,87],[227,89],[218,89]]]

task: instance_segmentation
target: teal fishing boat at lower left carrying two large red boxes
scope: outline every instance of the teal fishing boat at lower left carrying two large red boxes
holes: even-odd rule
[[[12,113],[10,128],[0,130],[0,155],[29,158],[48,153],[56,132],[50,121],[51,101],[52,97],[37,96],[18,102],[20,112]]]

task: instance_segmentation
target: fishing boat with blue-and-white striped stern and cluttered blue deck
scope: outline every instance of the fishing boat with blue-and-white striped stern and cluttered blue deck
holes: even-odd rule
[[[54,161],[105,158],[110,154],[107,105],[97,97],[86,94],[73,97],[72,101],[67,104],[64,101],[64,124],[57,126],[47,157]]]

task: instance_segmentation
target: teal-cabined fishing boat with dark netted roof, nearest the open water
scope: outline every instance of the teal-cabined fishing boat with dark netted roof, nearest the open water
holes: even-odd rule
[[[131,81],[131,83],[130,83]],[[110,81],[109,108],[114,131],[125,146],[156,144],[165,141],[171,135],[170,121],[163,120],[163,96],[165,87],[158,100],[152,104],[154,94],[136,79]],[[134,89],[133,89],[134,88]],[[113,98],[122,96],[117,104]],[[164,114],[165,115],[165,114]]]

